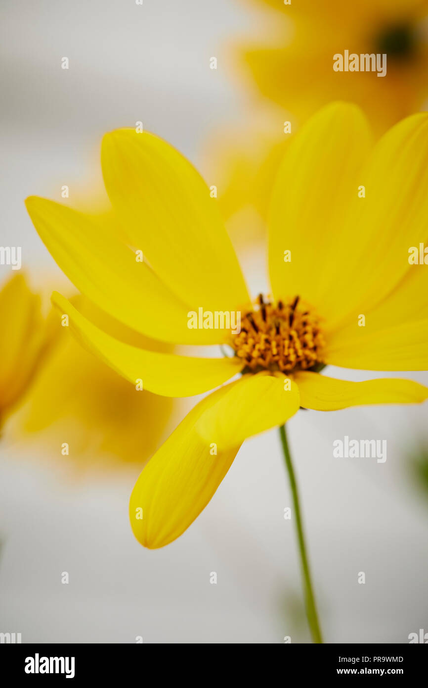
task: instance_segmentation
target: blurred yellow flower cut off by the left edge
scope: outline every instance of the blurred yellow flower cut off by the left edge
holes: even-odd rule
[[[0,429],[23,400],[49,343],[41,299],[21,273],[0,291]]]

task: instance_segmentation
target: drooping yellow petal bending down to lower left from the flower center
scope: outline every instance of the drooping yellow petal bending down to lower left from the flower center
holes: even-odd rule
[[[284,422],[298,407],[295,386],[284,391],[282,380],[269,376],[238,380],[205,397],[135,483],[129,514],[137,540],[155,549],[179,537],[214,495],[245,437]]]

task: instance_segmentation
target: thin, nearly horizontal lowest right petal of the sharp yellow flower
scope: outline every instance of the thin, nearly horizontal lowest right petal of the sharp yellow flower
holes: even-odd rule
[[[355,383],[325,375],[298,372],[300,403],[315,411],[337,411],[368,404],[418,404],[428,398],[428,389],[413,380],[381,378]]]

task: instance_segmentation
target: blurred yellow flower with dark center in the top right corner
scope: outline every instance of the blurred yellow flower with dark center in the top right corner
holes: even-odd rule
[[[260,0],[259,0],[260,4]],[[304,121],[336,98],[363,107],[376,132],[418,111],[428,96],[427,0],[299,0],[271,6],[275,38],[242,47],[260,92]],[[386,54],[386,76],[335,72],[333,56]]]

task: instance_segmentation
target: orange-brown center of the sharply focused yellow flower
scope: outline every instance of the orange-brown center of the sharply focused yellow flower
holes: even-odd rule
[[[243,372],[290,372],[313,369],[322,363],[324,337],[319,317],[300,297],[274,304],[264,301],[260,294],[254,310],[241,321],[232,346],[236,356],[247,362]]]

